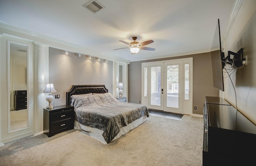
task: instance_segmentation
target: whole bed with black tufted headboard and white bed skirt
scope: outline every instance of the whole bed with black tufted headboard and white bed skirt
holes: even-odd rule
[[[74,105],[74,128],[107,144],[142,124],[149,117],[145,105],[116,99],[105,85],[73,85],[66,93]]]

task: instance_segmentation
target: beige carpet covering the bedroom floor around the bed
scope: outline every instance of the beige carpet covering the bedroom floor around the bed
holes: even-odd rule
[[[201,166],[202,136],[202,118],[184,122],[150,116],[106,145],[78,130],[22,138],[0,147],[0,165]]]

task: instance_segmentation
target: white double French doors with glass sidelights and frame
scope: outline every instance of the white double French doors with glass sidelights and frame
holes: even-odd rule
[[[192,115],[192,58],[142,63],[142,104]]]

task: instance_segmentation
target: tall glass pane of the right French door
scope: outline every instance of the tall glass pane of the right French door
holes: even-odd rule
[[[167,66],[167,107],[179,107],[179,65]]]

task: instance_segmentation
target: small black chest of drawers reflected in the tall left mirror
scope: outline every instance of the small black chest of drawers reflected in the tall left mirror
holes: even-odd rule
[[[14,109],[27,109],[27,91],[14,91]]]

